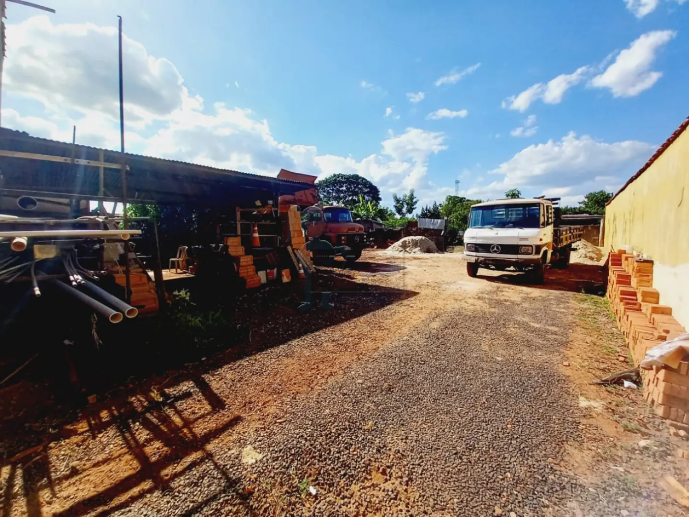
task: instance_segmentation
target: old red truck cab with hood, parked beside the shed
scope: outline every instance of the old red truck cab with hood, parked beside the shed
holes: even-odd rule
[[[350,262],[359,259],[361,250],[369,247],[364,227],[352,220],[347,207],[308,207],[302,211],[302,227],[308,241],[320,238],[333,246],[349,247],[351,251],[343,256]]]

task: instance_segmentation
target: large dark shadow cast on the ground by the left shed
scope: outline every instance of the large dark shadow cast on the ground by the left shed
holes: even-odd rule
[[[384,266],[376,264],[374,269]],[[179,282],[183,280],[188,290],[184,296],[175,297],[181,300],[167,314],[134,318],[119,325],[92,324],[90,314],[81,307],[65,304],[53,316],[55,321],[64,318],[69,323],[37,333],[48,341],[32,343],[35,346],[26,353],[38,351],[39,358],[18,376],[17,383],[0,390],[1,516],[9,516],[13,505],[21,505],[21,498],[29,516],[43,515],[39,490],[49,487],[54,494],[58,481],[62,484],[79,475],[81,468],[76,466],[59,480],[51,477],[51,472],[60,469],[48,460],[50,443],[75,434],[94,438],[112,429],[126,444],[130,454],[125,456],[130,462],[131,458],[136,460],[134,467],[123,467],[132,474],[96,496],[76,494],[79,503],[57,515],[90,514],[104,502],[121,501],[112,503],[116,507],[109,507],[109,513],[150,491],[164,489],[177,476],[206,462],[225,476],[228,489],[232,489],[235,480],[222,472],[205,445],[236,425],[240,417],[226,409],[225,401],[203,374],[417,294],[358,283],[336,269],[322,270],[313,290],[343,291],[347,296],[331,298],[335,310],[316,307],[302,313],[297,307],[304,299],[304,290],[298,282],[232,294],[219,292],[218,285],[194,284],[193,278]],[[174,290],[182,287],[171,284]],[[205,399],[207,413],[185,416],[177,403],[190,395],[168,394],[188,381]],[[168,391],[156,392],[155,387],[161,385]],[[94,394],[99,402],[87,404],[86,397]],[[192,424],[213,413],[218,413],[218,418],[212,429],[195,434]],[[87,427],[82,425],[84,418]],[[141,439],[142,427],[145,440]],[[164,453],[151,458],[144,447],[156,443]],[[123,458],[108,458],[107,463],[111,461]],[[88,468],[98,469],[99,465]]]

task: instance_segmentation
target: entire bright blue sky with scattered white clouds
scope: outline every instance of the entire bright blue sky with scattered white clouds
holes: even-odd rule
[[[689,114],[689,1],[8,5],[6,127],[259,174],[356,172],[389,203],[616,190]]]

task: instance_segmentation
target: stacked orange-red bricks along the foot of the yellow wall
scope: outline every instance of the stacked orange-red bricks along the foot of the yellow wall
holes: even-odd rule
[[[686,332],[672,307],[660,305],[653,289],[653,261],[624,251],[611,253],[608,269],[608,298],[619,329],[639,365],[649,349]],[[641,370],[646,400],[660,416],[689,424],[689,368],[686,357],[675,357],[670,365]]]

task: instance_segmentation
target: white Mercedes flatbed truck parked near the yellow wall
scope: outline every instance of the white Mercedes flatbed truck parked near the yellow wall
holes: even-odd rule
[[[464,232],[466,272],[480,267],[531,272],[543,283],[548,265],[567,267],[582,227],[562,226],[559,198],[498,199],[471,206]]]

